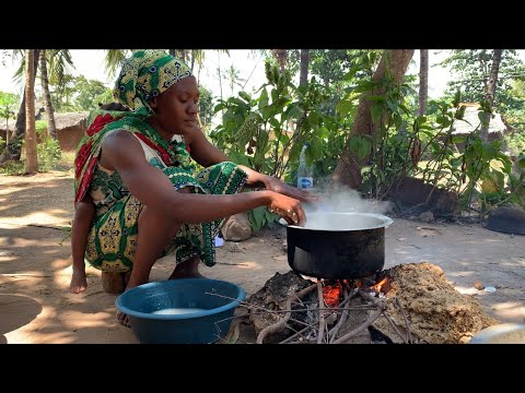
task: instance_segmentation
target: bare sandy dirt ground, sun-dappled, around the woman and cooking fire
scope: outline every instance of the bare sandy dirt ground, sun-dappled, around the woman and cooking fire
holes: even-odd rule
[[[138,343],[115,318],[116,295],[103,291],[101,273],[88,267],[88,291],[69,293],[73,214],[72,177],[0,175],[0,343]],[[201,272],[254,294],[276,273],[288,272],[284,228],[268,229],[218,249],[218,264]],[[62,241],[63,240],[63,241]],[[422,224],[396,219],[386,229],[386,267],[430,262],[455,288],[477,298],[501,322],[525,322],[525,237],[480,225]],[[168,258],[153,267],[165,279]],[[474,288],[481,282],[497,290]]]

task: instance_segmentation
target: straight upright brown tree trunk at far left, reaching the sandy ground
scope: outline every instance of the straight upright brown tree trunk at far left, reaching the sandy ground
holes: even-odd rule
[[[25,52],[25,172],[38,171],[35,130],[35,50]]]

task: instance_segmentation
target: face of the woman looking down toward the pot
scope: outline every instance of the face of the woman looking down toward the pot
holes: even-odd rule
[[[150,102],[156,122],[166,136],[185,134],[196,126],[199,90],[195,76],[187,76]]]

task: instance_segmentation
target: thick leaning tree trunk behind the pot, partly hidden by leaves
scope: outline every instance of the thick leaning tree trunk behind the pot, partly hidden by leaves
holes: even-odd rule
[[[381,58],[377,69],[372,75],[372,81],[378,82],[384,79],[388,62],[388,69],[390,70],[394,81],[397,84],[401,84],[402,76],[405,75],[405,72],[407,72],[412,56],[413,49],[386,50]],[[371,94],[383,95],[384,92],[381,87],[377,87],[371,92]],[[370,107],[371,103],[365,98],[359,100],[358,112],[355,114],[355,119],[347,139],[347,144],[332,175],[334,182],[348,186],[352,189],[355,189],[361,184],[361,168],[364,163],[366,163],[368,157],[360,160],[354,156],[350,151],[350,140],[355,134],[370,134],[374,136],[378,129],[377,124],[372,123]]]

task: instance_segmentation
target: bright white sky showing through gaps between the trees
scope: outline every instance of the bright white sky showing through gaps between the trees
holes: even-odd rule
[[[518,50],[520,56],[525,60],[525,50]],[[104,67],[105,50],[102,49],[71,49],[73,63],[75,66],[74,73],[83,74],[86,79],[94,79],[103,82],[108,87],[113,86],[114,75],[108,76]],[[446,87],[446,82],[450,79],[450,72],[441,67],[432,67],[432,64],[443,60],[447,56],[445,50],[429,50],[430,70],[429,70],[429,96],[431,98],[439,98]],[[215,96],[220,95],[220,86],[217,76],[217,68],[221,64],[221,70],[224,72],[232,64],[240,71],[241,79],[247,81],[244,90],[248,93],[252,88],[257,88],[266,82],[264,59],[259,52],[252,52],[244,49],[231,49],[230,56],[219,53],[214,50],[207,50],[205,57],[205,68],[200,74],[200,82],[202,85],[210,88]],[[0,91],[19,93],[22,91],[22,84],[12,82],[12,75],[15,67],[11,60],[5,61],[5,67],[0,63]],[[410,66],[408,73],[417,74],[419,72],[419,50],[413,55],[413,62]],[[244,82],[243,82],[244,83]],[[240,87],[234,87],[234,93],[238,92]],[[222,83],[223,96],[228,97],[232,91],[228,83]]]

